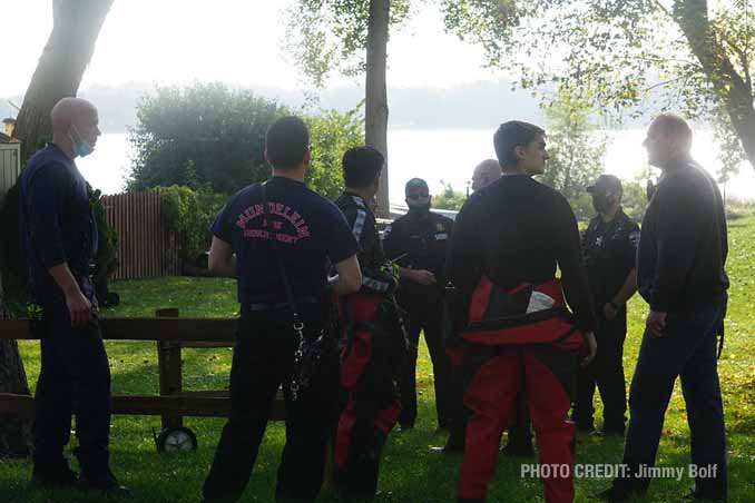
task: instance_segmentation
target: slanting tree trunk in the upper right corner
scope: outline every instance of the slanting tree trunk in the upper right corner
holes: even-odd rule
[[[748,62],[745,61],[745,75],[741,76],[710,26],[706,0],[675,1],[674,18],[713,83],[716,98],[726,107],[747,159],[755,167],[755,96]]]

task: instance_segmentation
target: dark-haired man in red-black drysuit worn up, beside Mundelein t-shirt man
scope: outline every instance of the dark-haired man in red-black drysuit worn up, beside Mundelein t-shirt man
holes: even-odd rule
[[[347,150],[343,156],[346,189],[335,201],[360,244],[362,270],[362,288],[341,302],[345,403],[335,438],[335,482],[350,499],[374,496],[381,452],[401,411],[396,379],[406,339],[393,298],[398,280],[369,206],[384,164],[374,148]]]

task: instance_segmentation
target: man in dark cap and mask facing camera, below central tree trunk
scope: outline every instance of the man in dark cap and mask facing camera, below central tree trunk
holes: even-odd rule
[[[447,428],[452,415],[449,403],[451,363],[443,348],[441,313],[445,249],[453,220],[430,211],[430,189],[424,180],[409,180],[404,193],[409,211],[383,233],[385,255],[395,260],[401,276],[399,304],[409,315],[406,335],[411,347],[401,379],[399,424],[402,428],[411,428],[416,420],[416,352],[420,332],[423,332],[432,359],[438,426]]]

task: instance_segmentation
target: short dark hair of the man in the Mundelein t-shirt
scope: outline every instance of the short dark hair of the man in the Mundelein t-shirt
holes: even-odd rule
[[[274,168],[291,169],[304,160],[310,148],[310,131],[296,116],[281,117],[267,129],[265,151]]]

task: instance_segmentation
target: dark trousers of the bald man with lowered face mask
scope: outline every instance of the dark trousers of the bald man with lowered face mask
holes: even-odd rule
[[[41,339],[41,373],[35,395],[35,471],[57,473],[70,438],[71,414],[81,474],[101,480],[108,470],[110,366],[99,323],[71,327],[62,294],[39,299],[42,319],[33,325]]]

